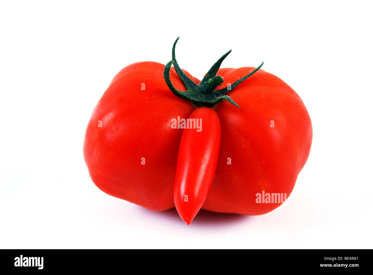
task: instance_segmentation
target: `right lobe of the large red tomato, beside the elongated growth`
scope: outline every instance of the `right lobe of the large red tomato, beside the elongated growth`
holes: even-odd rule
[[[224,68],[222,87],[254,67]],[[234,88],[214,109],[221,125],[215,178],[202,209],[261,215],[280,203],[256,203],[256,194],[286,193],[289,197],[307,161],[311,142],[310,116],[301,98],[285,82],[264,70]],[[271,120],[275,127],[270,127]],[[231,158],[231,164],[227,164]],[[223,190],[225,192],[223,192]]]

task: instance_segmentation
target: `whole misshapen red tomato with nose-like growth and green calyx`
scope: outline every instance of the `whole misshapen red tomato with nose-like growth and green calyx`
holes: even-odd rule
[[[173,208],[175,202],[178,207],[180,196],[193,186],[201,191],[195,198],[204,199],[208,191],[202,209],[246,215],[272,211],[281,203],[257,203],[257,195],[285,193],[289,197],[310,152],[312,126],[303,101],[285,82],[264,70],[254,67],[218,70],[229,52],[214,64],[202,82],[185,71],[183,75],[175,59],[175,44],[173,61],[166,69],[156,62],[125,67],[95,107],[83,148],[93,182],[109,195],[156,211]],[[172,63],[178,74],[170,68]],[[168,70],[170,81],[167,81]],[[234,82],[245,75],[250,78],[246,79],[247,76],[236,86]],[[221,88],[229,83],[235,86],[228,90],[229,97],[219,95]],[[193,102],[184,98],[192,98]],[[211,109],[204,113],[198,111],[204,108],[197,106]],[[212,143],[217,144],[220,121],[220,151],[212,150],[213,146],[207,143],[187,148],[187,142],[181,140],[183,129],[171,127],[172,119],[189,118],[194,110],[206,115],[204,121],[210,123],[204,122],[203,126],[210,124],[211,133],[215,133],[206,131],[204,142],[214,137]],[[215,118],[212,115],[208,118],[209,113],[215,112]],[[197,133],[189,135],[187,140],[198,140]],[[198,169],[203,162],[198,158],[204,156],[201,148],[219,152],[212,184],[214,158],[207,165],[209,168]],[[180,164],[175,179],[178,152]],[[191,158],[185,157],[186,154]],[[204,179],[200,183],[199,176]],[[189,182],[189,187],[182,182]],[[182,206],[178,211],[189,211],[191,216],[200,202],[193,209]]]

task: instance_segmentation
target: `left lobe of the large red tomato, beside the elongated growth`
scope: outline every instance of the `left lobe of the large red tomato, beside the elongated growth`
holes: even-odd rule
[[[171,119],[187,118],[195,109],[170,92],[163,69],[156,62],[122,69],[94,108],[83,146],[88,171],[99,189],[155,211],[175,207],[173,181],[182,129],[171,129]],[[170,77],[185,89],[173,69]]]

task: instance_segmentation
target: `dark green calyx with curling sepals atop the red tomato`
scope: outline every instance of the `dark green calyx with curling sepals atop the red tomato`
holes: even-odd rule
[[[179,37],[176,39],[175,43],[173,43],[172,60],[166,64],[163,70],[164,80],[166,81],[166,84],[171,92],[173,92],[174,95],[180,98],[192,101],[197,107],[212,107],[213,105],[220,103],[225,99],[239,108],[236,102],[234,102],[232,98],[230,98],[226,94],[228,94],[228,92],[235,88],[239,83],[248,79],[250,76],[256,73],[256,71],[259,70],[261,66],[263,66],[264,62],[262,62],[259,67],[253,70],[253,72],[249,73],[243,78],[238,79],[232,85],[223,89],[215,90],[217,86],[220,86],[224,82],[223,78],[220,75],[216,75],[216,73],[219,70],[223,60],[228,56],[229,53],[231,53],[232,50],[228,51],[228,53],[220,57],[220,59],[217,60],[216,63],[213,64],[213,66],[210,68],[209,72],[206,73],[201,83],[197,84],[185,75],[185,73],[180,69],[178,62],[176,61],[175,47],[178,40]],[[178,74],[179,78],[184,83],[187,91],[179,91],[172,85],[172,82],[170,80],[170,68],[172,64],[175,67],[175,71]]]

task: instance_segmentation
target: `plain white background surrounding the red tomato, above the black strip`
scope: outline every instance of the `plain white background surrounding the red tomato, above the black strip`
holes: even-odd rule
[[[372,248],[371,1],[1,1],[0,248]],[[303,99],[310,157],[262,216],[187,226],[101,192],[90,114],[122,67],[177,57],[202,78],[258,66]],[[352,255],[353,256],[353,255]]]

